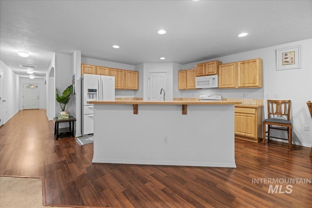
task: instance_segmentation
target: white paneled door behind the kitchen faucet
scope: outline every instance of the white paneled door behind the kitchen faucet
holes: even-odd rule
[[[166,72],[150,72],[148,76],[148,99],[153,101],[163,100],[164,93],[160,95],[160,90],[165,90],[166,97],[168,100],[168,82]]]

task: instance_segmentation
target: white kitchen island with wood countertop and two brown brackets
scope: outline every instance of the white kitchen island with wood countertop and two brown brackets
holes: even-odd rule
[[[235,168],[229,101],[90,101],[93,163]],[[167,139],[166,139],[167,138]]]

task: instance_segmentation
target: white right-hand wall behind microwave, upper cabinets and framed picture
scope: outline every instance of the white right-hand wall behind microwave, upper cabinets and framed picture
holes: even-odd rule
[[[302,67],[301,69],[276,71],[276,49],[301,45]],[[260,57],[263,60],[263,88],[251,89],[211,89],[211,90],[182,90],[184,97],[198,97],[202,94],[219,94],[225,98],[257,98],[264,99],[264,118],[267,118],[267,107],[264,95],[269,94],[269,99],[292,100],[291,121],[293,125],[292,138],[297,145],[311,147],[312,144],[312,119],[306,102],[312,100],[312,39],[291,42],[283,45],[263,48],[226,57],[211,60],[220,60],[230,63],[239,60],[247,60]],[[183,69],[195,68],[196,63],[183,65]],[[175,74],[177,76],[177,74]],[[175,83],[177,85],[177,83]],[[243,95],[246,95],[244,97]],[[278,94],[277,98],[273,94]],[[303,131],[303,126],[308,125],[309,131]],[[277,133],[277,132],[276,132]],[[278,132],[281,137],[287,137],[286,132]]]

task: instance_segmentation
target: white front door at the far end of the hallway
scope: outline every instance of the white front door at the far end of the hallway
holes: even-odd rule
[[[39,109],[39,89],[37,84],[23,84],[23,109]]]

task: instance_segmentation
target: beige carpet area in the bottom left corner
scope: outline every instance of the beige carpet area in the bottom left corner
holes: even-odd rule
[[[59,208],[43,206],[42,179],[0,177],[0,208]]]

